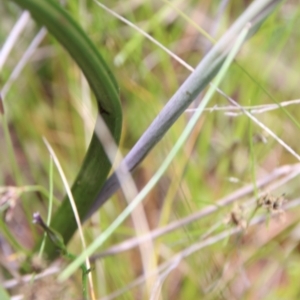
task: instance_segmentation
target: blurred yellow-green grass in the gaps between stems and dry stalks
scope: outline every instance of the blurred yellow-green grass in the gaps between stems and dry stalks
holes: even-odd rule
[[[120,12],[134,24],[149,30],[153,37],[192,66],[195,66],[211,45],[197,29],[163,2],[106,1],[104,4]],[[178,7],[201,28],[209,33],[215,32],[215,39],[221,36],[246,7],[245,2],[239,2],[239,5],[232,2],[218,16],[220,5],[220,1],[212,1],[210,5],[206,1],[178,1]],[[2,44],[20,11],[6,2],[0,3],[0,8]],[[103,57],[109,62],[121,88],[124,112],[121,150],[126,153],[189,71],[133,29],[103,12],[92,1],[81,1],[80,5],[69,2],[67,9],[83,25],[96,45],[105,45],[102,47]],[[260,86],[279,102],[299,98],[299,20],[297,2],[285,3],[245,44],[237,58],[238,64],[256,82],[237,65],[233,65],[221,89],[245,106],[273,103]],[[1,85],[7,80],[36,32],[37,27],[33,24],[26,28],[4,66]],[[114,64],[122,53],[127,54],[123,64]],[[22,185],[39,184],[48,187],[49,155],[41,136],[45,136],[53,146],[69,182],[75,178],[85,153],[87,138],[83,120],[74,105],[80,99],[81,88],[80,71],[55,40],[47,36],[4,99]],[[215,104],[228,105],[228,102],[222,96],[215,95],[212,106]],[[285,109],[299,120],[300,111],[296,106]],[[189,117],[190,113],[180,117],[134,173],[139,188],[148,182],[161,165]],[[257,117],[297,153],[300,152],[299,128],[282,110],[266,112]],[[255,124],[252,126],[254,135],[263,134]],[[91,134],[90,132],[89,135]],[[6,159],[8,153],[2,131],[0,138],[0,153],[3,158],[0,162],[0,184],[15,185],[12,166]],[[267,138],[266,144],[253,142],[252,146],[254,166],[250,160],[249,121],[246,116],[230,117],[223,112],[207,112],[199,122],[199,128],[145,202],[151,228],[187,216],[235,191],[244,183],[251,183],[252,168],[256,177],[260,178],[276,167],[296,162],[294,157],[271,138]],[[238,182],[234,183],[229,178],[236,178]],[[55,195],[61,198],[64,190],[56,171],[53,180]],[[274,194],[282,192],[286,192],[289,199],[296,198],[299,194],[297,180],[288,182]],[[31,212],[39,210],[46,215],[47,203],[44,200],[39,193],[21,198],[24,206]],[[101,232],[105,229],[125,205],[121,193],[117,193],[95,217],[100,218],[98,230]],[[19,205],[18,207],[16,210],[21,209]],[[229,211],[230,208],[222,209],[208,218],[160,238],[156,244],[157,259],[167,260],[172,253],[197,242],[209,228],[225,219]],[[298,208],[287,212],[287,219],[297,222],[298,213]],[[16,219],[18,216],[13,215],[9,224],[11,230],[15,230],[16,226],[25,226],[27,234],[23,239],[27,236],[34,238],[32,231],[35,229],[27,225],[31,220],[26,220],[24,216],[23,219]],[[269,227],[258,225],[240,239],[233,237],[227,243],[219,242],[185,259],[164,282],[162,299],[297,299],[297,281],[300,275],[299,268],[295,267],[299,259],[298,231],[291,234],[288,230],[283,238],[272,236],[275,229],[284,230],[286,226],[280,222],[271,222]],[[86,233],[91,241],[94,238],[92,229],[92,223],[89,222]],[[128,220],[106,243],[106,247],[132,235],[132,223]],[[266,242],[259,246],[257,240],[264,239]],[[18,237],[18,240],[27,247],[30,246],[22,238]],[[76,236],[69,245],[70,252],[78,253],[78,245]],[[247,261],[245,257],[253,259]],[[97,290],[99,297],[126,286],[142,272],[138,250],[107,257],[98,264],[97,274],[104,276],[96,276],[94,279],[96,286],[101,286]],[[242,288],[238,289],[238,285]],[[119,297],[146,298],[145,288],[135,288]]]

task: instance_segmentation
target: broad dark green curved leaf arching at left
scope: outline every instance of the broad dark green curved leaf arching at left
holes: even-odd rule
[[[94,44],[71,16],[52,0],[13,0],[59,41],[69,52],[83,71],[93,90],[99,113],[108,126],[115,142],[118,144],[121,135],[122,111],[115,78],[100,56]],[[72,193],[82,218],[90,209],[111,168],[109,159],[93,134],[89,149],[82,167],[72,186]],[[66,196],[55,213],[51,227],[60,232],[65,243],[77,229],[75,218]],[[49,258],[57,255],[54,245],[47,243],[45,249]]]

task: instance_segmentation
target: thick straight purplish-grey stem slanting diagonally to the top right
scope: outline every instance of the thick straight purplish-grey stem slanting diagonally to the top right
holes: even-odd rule
[[[253,33],[258,30],[264,19],[274,11],[280,2],[282,1],[256,0],[248,7],[248,9],[239,17],[226,34],[224,34],[224,36],[199,63],[195,71],[187,78],[175,95],[169,100],[121,164],[124,164],[129,171],[133,171],[136,166],[143,161],[151,149],[162,139],[184,110],[216,75],[228,54],[229,47],[232,45],[232,39],[241,32],[248,22],[252,24],[252,27],[247,38],[252,36]],[[122,167],[120,170],[121,169]],[[119,182],[114,173],[105,182],[92,208],[85,216],[85,220],[99,209],[99,207],[101,207],[118,188]]]

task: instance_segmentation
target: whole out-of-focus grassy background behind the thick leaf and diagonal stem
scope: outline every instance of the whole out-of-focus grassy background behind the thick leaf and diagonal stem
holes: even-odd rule
[[[103,4],[196,67],[251,2],[126,0]],[[190,71],[95,2],[68,1],[65,8],[95,43],[120,86],[120,150],[126,155]],[[133,285],[145,274],[140,248],[96,260],[93,279],[99,299],[148,299],[155,295],[157,299],[300,297],[299,12],[297,1],[283,2],[244,44],[220,86],[241,106],[253,106],[248,111],[296,155],[216,93],[211,109],[203,114],[143,202],[150,230],[208,206],[216,208],[214,213],[153,240],[148,259],[155,275],[139,284]],[[0,201],[1,205],[11,206],[1,221],[1,280],[5,282],[18,272],[24,251],[32,253],[42,234],[31,220],[37,210],[43,216],[47,214],[43,189],[49,189],[49,153],[42,137],[53,147],[71,184],[92,135],[96,108],[79,68],[51,35],[40,31],[9,1],[0,3],[0,16],[1,47],[16,22],[24,18],[20,36],[5,63],[0,64],[4,108],[0,117]],[[38,34],[40,41],[18,73],[17,66]],[[199,95],[133,173],[139,190],[162,164],[202,97]],[[89,108],[91,118],[82,117],[81,105]],[[232,196],[235,198],[229,205],[218,206],[220,199],[261,180],[267,180],[267,184],[258,184],[247,193]],[[56,169],[53,185],[58,202],[65,192]],[[255,201],[264,194],[268,194],[262,200],[267,209],[256,210]],[[285,209],[283,203],[293,209]],[[117,192],[85,224],[87,241],[107,228],[126,205],[123,194]],[[257,216],[265,216],[266,220],[244,230],[247,222]],[[232,236],[230,230],[236,229],[243,230]],[[218,240],[224,232],[228,234]],[[135,234],[133,222],[128,219],[101,250]],[[200,251],[172,261],[181,251],[208,240],[212,242]],[[68,249],[80,253],[77,235]],[[159,271],[163,263],[169,265]],[[76,280],[80,282],[80,274],[71,282],[73,287]]]

